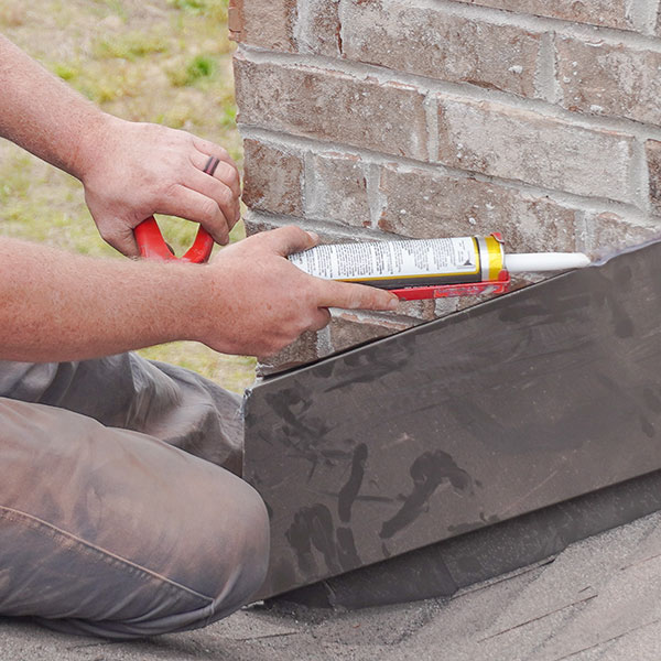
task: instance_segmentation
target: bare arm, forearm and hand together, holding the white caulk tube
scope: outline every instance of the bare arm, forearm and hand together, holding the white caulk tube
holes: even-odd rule
[[[0,359],[84,359],[176,339],[268,356],[325,326],[328,306],[397,306],[388,292],[312,278],[284,259],[314,242],[288,227],[199,266],[99,260],[2,239]]]

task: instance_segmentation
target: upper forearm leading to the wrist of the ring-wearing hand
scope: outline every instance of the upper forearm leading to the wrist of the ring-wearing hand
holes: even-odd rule
[[[1,137],[82,178],[106,121],[90,101],[0,35]]]

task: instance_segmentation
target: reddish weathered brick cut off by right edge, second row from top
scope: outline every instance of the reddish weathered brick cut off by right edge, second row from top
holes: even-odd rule
[[[555,44],[565,108],[661,123],[661,53],[567,36]]]

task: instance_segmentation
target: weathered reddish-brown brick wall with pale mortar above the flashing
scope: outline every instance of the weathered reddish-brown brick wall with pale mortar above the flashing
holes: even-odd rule
[[[659,231],[660,0],[230,0],[230,30],[249,231],[592,254]],[[262,371],[469,303],[335,313]]]

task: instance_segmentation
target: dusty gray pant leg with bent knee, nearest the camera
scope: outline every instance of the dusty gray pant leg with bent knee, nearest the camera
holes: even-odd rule
[[[0,614],[111,638],[205,626],[261,585],[268,516],[158,438],[0,398]]]

